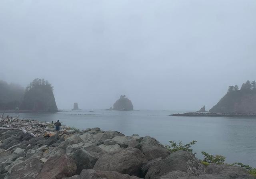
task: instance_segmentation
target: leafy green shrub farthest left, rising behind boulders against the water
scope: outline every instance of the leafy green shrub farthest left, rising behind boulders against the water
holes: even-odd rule
[[[170,145],[166,145],[166,149],[170,152],[174,152],[174,151],[178,151],[178,150],[184,150],[184,151],[189,151],[191,153],[193,153],[193,149],[191,148],[192,145],[196,144],[196,140],[193,140],[192,142],[188,143],[188,144],[182,144],[182,142],[180,141],[178,144],[176,144],[176,142],[174,141],[169,141]],[[193,153],[194,155],[196,153]]]

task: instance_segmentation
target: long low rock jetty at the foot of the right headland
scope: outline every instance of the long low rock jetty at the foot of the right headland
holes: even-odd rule
[[[216,113],[216,112],[186,112],[183,114],[170,114],[169,116],[206,116],[206,117],[255,117],[256,113]]]

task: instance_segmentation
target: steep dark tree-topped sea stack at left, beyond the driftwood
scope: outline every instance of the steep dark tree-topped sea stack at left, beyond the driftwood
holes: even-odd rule
[[[34,79],[26,87],[20,109],[35,112],[57,112],[52,85],[44,79]]]

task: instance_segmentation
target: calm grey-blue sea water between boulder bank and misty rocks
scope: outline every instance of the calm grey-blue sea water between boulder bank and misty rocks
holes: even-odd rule
[[[197,140],[193,149],[202,159],[201,151],[226,156],[226,162],[242,162],[256,167],[256,118],[241,117],[177,117],[168,116],[186,111],[140,110],[66,111],[55,114],[20,113],[20,118],[41,121],[60,120],[62,124],[80,129],[100,127],[117,130],[130,136],[152,136],[166,145],[169,140],[188,143]],[[5,114],[6,116],[7,114]],[[9,113],[9,116],[17,116]]]

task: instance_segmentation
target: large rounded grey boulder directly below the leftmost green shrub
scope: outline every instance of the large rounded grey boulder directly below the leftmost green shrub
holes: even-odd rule
[[[176,151],[149,167],[145,179],[159,179],[170,171],[180,170],[193,175],[205,173],[204,165],[188,151]]]

